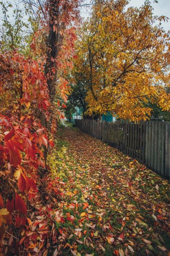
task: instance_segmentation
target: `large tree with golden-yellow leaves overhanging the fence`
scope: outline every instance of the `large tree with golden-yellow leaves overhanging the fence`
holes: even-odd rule
[[[170,109],[170,33],[146,1],[140,8],[126,0],[96,0],[91,17],[78,32],[75,72],[86,80],[87,113],[116,113],[122,119],[146,120],[157,104]]]

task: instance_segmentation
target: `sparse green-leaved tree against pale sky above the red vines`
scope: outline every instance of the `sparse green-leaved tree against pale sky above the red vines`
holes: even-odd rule
[[[2,24],[0,30],[1,50],[18,48],[24,55],[30,53],[33,34],[38,29],[38,14],[35,16],[30,4],[0,2]]]

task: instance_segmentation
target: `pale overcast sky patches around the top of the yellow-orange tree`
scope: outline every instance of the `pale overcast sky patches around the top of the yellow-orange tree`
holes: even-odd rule
[[[90,0],[84,0],[85,3],[89,4]],[[144,4],[145,0],[131,0],[128,6],[140,7]],[[154,3],[154,0],[151,0],[151,5],[154,7],[154,15],[165,15],[170,18],[170,0],[158,0],[158,3]],[[87,17],[88,12],[85,8],[81,11],[82,17]],[[168,22],[162,23],[163,28],[168,31],[170,30],[170,20]]]

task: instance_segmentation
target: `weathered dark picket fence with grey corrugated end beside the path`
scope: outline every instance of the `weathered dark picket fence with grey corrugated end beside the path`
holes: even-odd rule
[[[105,122],[75,119],[83,132],[170,178],[170,122]]]

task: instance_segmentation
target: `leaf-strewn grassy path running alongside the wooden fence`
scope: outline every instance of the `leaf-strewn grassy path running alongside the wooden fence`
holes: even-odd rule
[[[75,127],[56,147],[54,256],[170,255],[167,180]]]

